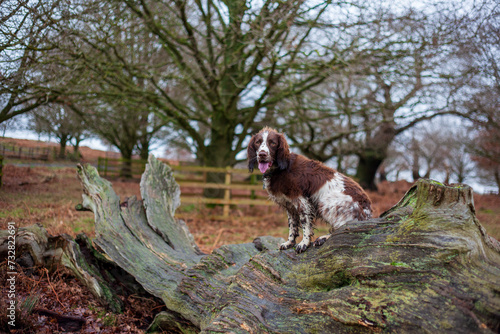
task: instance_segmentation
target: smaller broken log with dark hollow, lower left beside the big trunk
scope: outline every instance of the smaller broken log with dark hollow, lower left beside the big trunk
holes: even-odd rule
[[[9,254],[9,236],[8,230],[0,231],[1,258]],[[99,253],[84,233],[76,239],[67,234],[51,236],[42,225],[34,224],[19,228],[15,240],[15,262],[27,275],[31,275],[35,267],[66,270],[113,312],[123,311],[118,295],[150,296],[132,276]]]

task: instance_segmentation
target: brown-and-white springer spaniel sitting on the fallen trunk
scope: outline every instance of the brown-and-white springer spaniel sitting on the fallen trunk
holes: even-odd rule
[[[288,241],[280,250],[291,248],[303,229],[297,253],[311,245],[313,222],[321,218],[332,231],[350,220],[371,218],[371,202],[363,189],[349,177],[316,160],[291,153],[285,136],[269,127],[263,128],[250,140],[247,148],[248,169],[255,164],[264,174],[264,188],[269,197],[288,214]],[[321,246],[330,234],[313,243]]]

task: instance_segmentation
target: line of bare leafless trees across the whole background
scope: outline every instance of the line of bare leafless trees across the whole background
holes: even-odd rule
[[[2,6],[0,124],[30,113],[61,146],[130,159],[160,140],[218,167],[270,125],[366,188],[403,170],[500,186],[496,1]]]

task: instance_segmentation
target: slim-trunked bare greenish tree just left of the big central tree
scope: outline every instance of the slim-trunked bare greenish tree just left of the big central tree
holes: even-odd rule
[[[164,73],[169,60],[125,9],[111,2],[61,4],[51,17],[57,23],[45,44],[56,51],[46,55],[41,71],[57,71],[66,78],[58,102],[120,151],[121,174],[130,177],[132,155],[147,159],[151,142],[168,122],[146,101],[152,89],[148,73]]]

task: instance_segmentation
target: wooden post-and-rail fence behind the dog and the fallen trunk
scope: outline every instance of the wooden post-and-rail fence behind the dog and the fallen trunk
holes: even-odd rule
[[[98,171],[104,177],[117,177],[123,159],[99,158]],[[142,174],[145,161],[132,160],[132,174]],[[223,206],[223,218],[229,216],[231,205],[262,205],[269,206],[273,203],[267,200],[267,192],[263,190],[262,183],[257,175],[249,174],[247,169],[217,168],[199,166],[170,166],[174,171],[176,182],[181,187],[182,204],[218,204]],[[219,175],[220,181],[207,182],[208,173]],[[203,196],[205,189],[223,189],[223,198]]]

